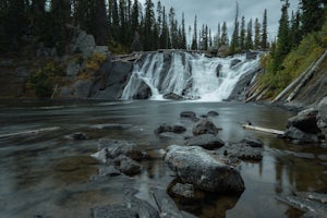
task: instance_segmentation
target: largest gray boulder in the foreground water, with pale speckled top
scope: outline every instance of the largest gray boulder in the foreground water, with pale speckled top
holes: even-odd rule
[[[171,145],[165,162],[182,182],[203,191],[240,193],[245,189],[238,170],[198,146]]]

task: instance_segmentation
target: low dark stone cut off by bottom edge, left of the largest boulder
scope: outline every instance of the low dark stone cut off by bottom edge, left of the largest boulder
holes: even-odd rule
[[[93,218],[138,218],[133,209],[123,205],[109,205],[104,207],[92,208]]]

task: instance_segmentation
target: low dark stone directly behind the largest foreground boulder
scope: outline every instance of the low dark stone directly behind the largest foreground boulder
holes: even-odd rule
[[[189,138],[186,146],[199,146],[205,149],[217,149],[225,145],[225,142],[213,134],[203,134]]]

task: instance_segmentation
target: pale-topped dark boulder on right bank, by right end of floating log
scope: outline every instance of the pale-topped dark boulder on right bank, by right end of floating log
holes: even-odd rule
[[[317,134],[319,129],[317,126],[318,110],[310,108],[298,113],[298,116],[288,119],[287,128],[294,126],[305,133]]]

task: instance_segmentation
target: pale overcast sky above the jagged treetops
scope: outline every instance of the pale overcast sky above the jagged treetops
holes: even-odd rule
[[[140,0],[142,3],[145,0]],[[177,19],[180,23],[182,13],[185,14],[185,24],[189,29],[189,25],[194,23],[194,16],[197,15],[197,27],[202,28],[202,24],[207,24],[211,28],[213,34],[217,33],[218,23],[227,22],[229,36],[233,31],[233,22],[235,16],[235,2],[237,0],[160,0],[166,7],[166,12],[173,7],[175,9]],[[155,7],[157,0],[153,0]],[[253,20],[258,17],[259,22],[263,22],[264,10],[267,9],[268,14],[268,36],[272,39],[277,35],[278,21],[280,19],[280,0],[238,0],[240,9],[240,20],[244,15],[245,22],[252,17]],[[298,10],[299,0],[290,0],[290,9]],[[190,39],[189,39],[190,40]]]

